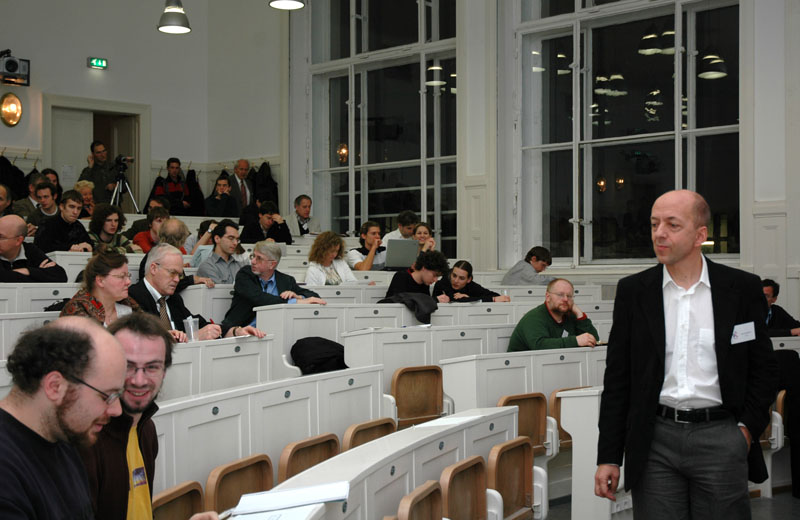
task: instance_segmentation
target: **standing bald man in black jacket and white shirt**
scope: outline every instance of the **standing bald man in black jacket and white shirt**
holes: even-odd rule
[[[608,344],[595,494],[614,499],[625,455],[635,518],[750,518],[748,476],[777,366],[758,277],[701,253],[710,210],[668,192],[650,224],[660,264],[619,282]],[[749,473],[749,475],[748,475]]]

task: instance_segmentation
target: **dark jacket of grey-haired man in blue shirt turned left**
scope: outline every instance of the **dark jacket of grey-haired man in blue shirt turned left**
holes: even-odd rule
[[[319,297],[319,294],[314,291],[309,291],[297,285],[293,276],[283,274],[280,271],[275,271],[275,285],[278,287],[278,294],[284,291],[292,291],[303,298]],[[253,269],[249,265],[242,267],[236,273],[236,280],[233,284],[233,301],[231,302],[231,308],[225,314],[225,320],[222,322],[222,335],[224,336],[231,327],[250,325],[256,317],[256,313],[253,311],[254,307],[277,305],[279,303],[286,303],[286,300],[280,296],[262,291],[258,275],[253,273]]]

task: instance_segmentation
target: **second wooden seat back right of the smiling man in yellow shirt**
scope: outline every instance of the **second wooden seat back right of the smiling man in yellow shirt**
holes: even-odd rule
[[[263,453],[217,466],[206,481],[206,509],[225,511],[245,493],[272,489],[272,461]]]

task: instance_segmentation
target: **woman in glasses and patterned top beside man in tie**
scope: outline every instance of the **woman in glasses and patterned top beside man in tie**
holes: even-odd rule
[[[83,270],[83,287],[61,309],[59,316],[88,316],[104,326],[117,318],[139,310],[139,305],[128,296],[131,273],[128,258],[117,251],[97,252]]]

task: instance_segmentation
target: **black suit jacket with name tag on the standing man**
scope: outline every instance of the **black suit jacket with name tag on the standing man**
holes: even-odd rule
[[[765,324],[761,281],[707,260],[714,312],[714,337],[722,406],[753,438],[748,477],[763,482],[766,467],[758,437],[769,422],[778,372]],[[661,264],[620,280],[608,341],[600,405],[598,464],[622,465],[625,488],[641,477],[653,438],[656,407],[664,383],[664,301]],[[735,325],[752,322],[756,338],[731,344]]]

